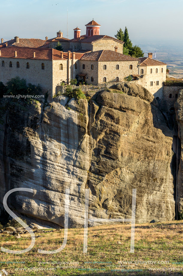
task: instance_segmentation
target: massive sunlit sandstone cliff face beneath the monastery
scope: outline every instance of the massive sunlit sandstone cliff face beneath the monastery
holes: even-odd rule
[[[10,189],[32,188],[10,195],[9,207],[38,225],[64,227],[69,188],[69,227],[83,227],[86,188],[90,217],[105,219],[131,218],[137,188],[136,222],[174,219],[172,133],[145,88],[118,89],[123,94],[91,93],[90,103],[3,102],[1,203]]]

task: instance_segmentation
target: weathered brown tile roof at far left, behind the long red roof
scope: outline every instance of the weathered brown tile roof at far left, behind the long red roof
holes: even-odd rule
[[[11,39],[6,42],[7,42],[7,47],[17,46],[17,47],[38,48],[43,46],[46,43],[46,40],[35,39],[35,38],[19,38],[19,43],[16,43],[15,39]],[[6,42],[0,43],[0,45],[5,45]]]

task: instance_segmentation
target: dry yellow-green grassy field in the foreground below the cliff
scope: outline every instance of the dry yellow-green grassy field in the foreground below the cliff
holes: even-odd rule
[[[64,230],[35,233],[42,237],[36,238],[28,253],[0,253],[1,270],[15,276],[183,275],[183,221],[137,224],[134,253],[130,253],[129,224],[88,228],[87,253],[83,253],[83,233],[83,229],[69,229],[66,247],[60,253],[49,255],[37,251],[59,248]],[[31,242],[29,234],[21,236],[16,239],[1,234],[1,246],[10,250],[25,249]]]

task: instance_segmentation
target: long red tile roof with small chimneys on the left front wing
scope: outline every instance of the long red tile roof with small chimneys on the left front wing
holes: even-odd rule
[[[17,53],[17,57],[14,57],[14,51]],[[35,52],[35,57],[33,53]],[[82,53],[76,53],[75,59],[80,59]],[[62,60],[61,51],[51,49],[51,48],[25,48],[25,47],[7,47],[1,49],[0,57],[10,57],[10,58],[25,58],[34,60]],[[68,58],[68,53],[63,52],[63,60]],[[72,58],[72,53],[71,53]]]

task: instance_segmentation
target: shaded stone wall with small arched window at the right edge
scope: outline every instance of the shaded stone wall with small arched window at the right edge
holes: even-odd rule
[[[183,89],[183,85],[182,86],[164,86],[163,96],[167,102],[168,110],[170,110],[171,107],[174,107],[174,103],[176,101],[176,94],[178,95],[180,89]],[[170,98],[170,94],[172,95],[172,98]]]

